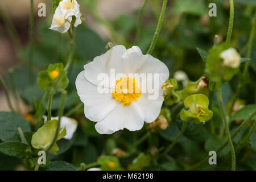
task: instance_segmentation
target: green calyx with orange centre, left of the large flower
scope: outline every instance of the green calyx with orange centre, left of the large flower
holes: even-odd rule
[[[63,69],[63,64],[50,64],[46,71],[38,73],[38,86],[41,90],[54,89],[61,92],[68,86],[67,72]]]

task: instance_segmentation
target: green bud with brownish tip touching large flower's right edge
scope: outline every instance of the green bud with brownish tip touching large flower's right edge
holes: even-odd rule
[[[166,105],[174,105],[175,103],[180,101],[181,95],[177,89],[177,81],[175,79],[167,80],[163,85],[162,85],[162,90],[164,93],[164,103]]]

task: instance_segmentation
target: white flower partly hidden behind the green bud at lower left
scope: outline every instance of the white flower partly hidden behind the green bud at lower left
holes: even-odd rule
[[[44,122],[47,122],[46,115],[43,115],[43,118],[44,118]],[[52,117],[52,119],[58,120],[59,117]],[[71,140],[73,137],[73,134],[77,129],[77,121],[73,118],[62,116],[60,119],[60,127],[61,128],[66,127],[67,134],[63,138]]]

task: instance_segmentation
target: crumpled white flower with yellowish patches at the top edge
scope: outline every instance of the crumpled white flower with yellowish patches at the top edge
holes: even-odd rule
[[[80,19],[79,4],[76,0],[62,0],[53,15],[50,29],[65,33],[71,26],[72,16],[76,17],[74,26],[77,27],[82,23]]]

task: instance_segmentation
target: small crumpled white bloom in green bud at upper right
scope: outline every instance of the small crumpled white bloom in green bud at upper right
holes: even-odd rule
[[[222,51],[220,57],[224,60],[223,64],[226,67],[237,68],[240,65],[241,56],[234,48]]]

